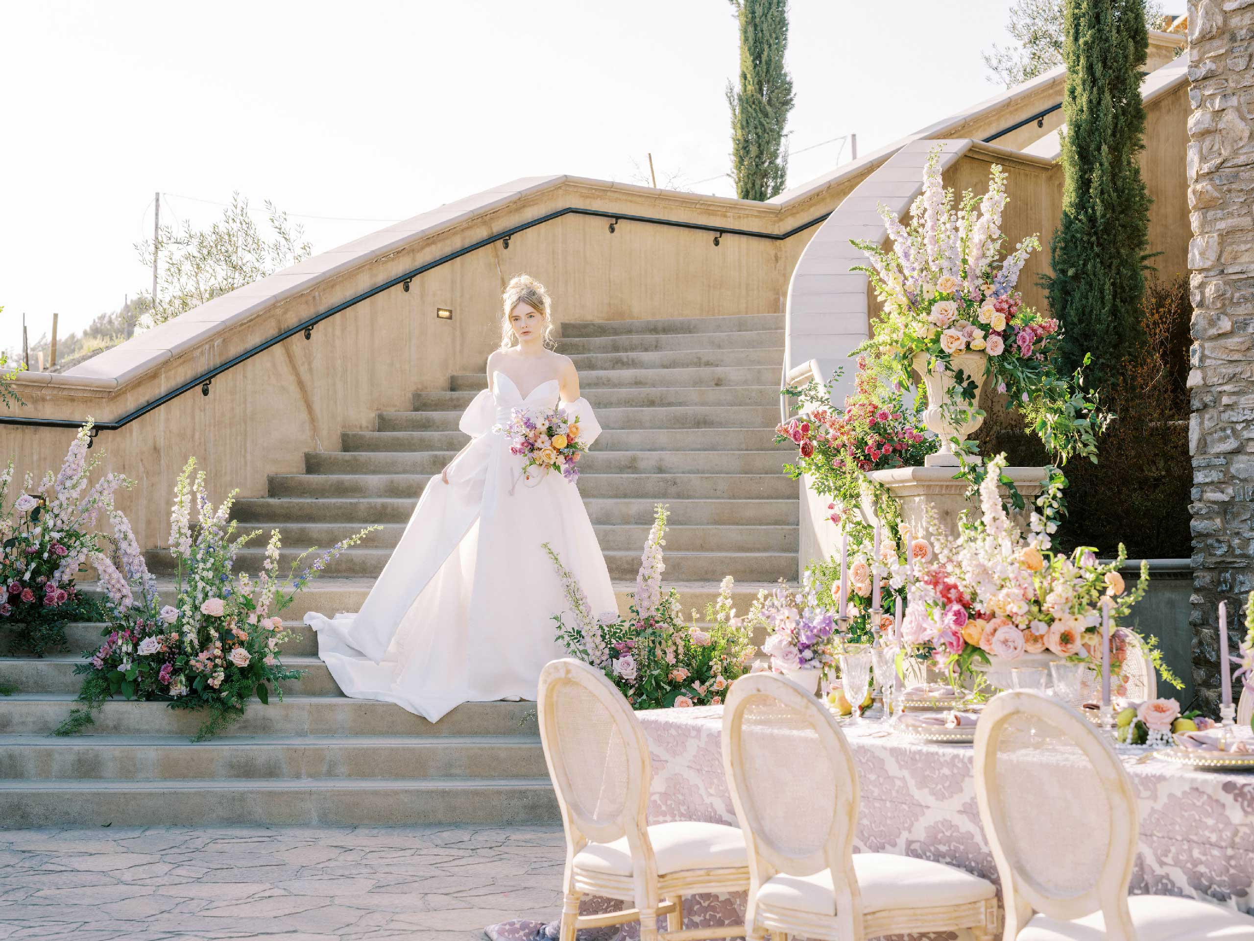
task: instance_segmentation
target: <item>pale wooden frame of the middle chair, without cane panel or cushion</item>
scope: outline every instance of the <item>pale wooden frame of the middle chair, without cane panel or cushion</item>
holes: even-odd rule
[[[806,718],[819,738],[819,748],[826,754],[835,789],[835,809],[831,826],[823,847],[804,857],[791,857],[772,846],[764,834],[757,809],[747,799],[745,782],[744,744],[741,729],[745,709],[764,698],[798,710]],[[963,905],[937,906],[934,908],[884,908],[872,913],[863,911],[861,892],[854,872],[853,844],[858,827],[860,790],[853,753],[844,733],[831,713],[796,683],[775,674],[751,674],[736,680],[727,694],[722,714],[722,763],[731,790],[740,828],[745,832],[749,849],[749,906],[745,923],[751,937],[761,937],[769,931],[776,941],[789,935],[830,938],[831,941],[863,941],[867,937],[922,931],[952,931],[969,928],[977,941],[992,941],[997,930],[998,906],[996,898]],[[831,871],[835,892],[835,915],[821,916],[762,905],[757,893],[770,878],[785,873],[811,876],[823,869]]]

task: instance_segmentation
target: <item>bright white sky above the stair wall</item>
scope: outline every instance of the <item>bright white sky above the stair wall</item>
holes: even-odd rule
[[[1011,0],[793,0],[789,186],[998,90]],[[150,285],[240,192],[326,251],[524,176],[732,196],[727,0],[0,4],[0,349]],[[803,152],[804,151],[804,152]],[[260,216],[263,218],[263,216]]]

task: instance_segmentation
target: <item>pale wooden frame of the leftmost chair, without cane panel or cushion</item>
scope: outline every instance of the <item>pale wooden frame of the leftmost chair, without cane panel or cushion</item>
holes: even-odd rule
[[[626,799],[622,812],[609,822],[598,823],[571,799],[571,784],[557,730],[553,695],[563,683],[573,683],[591,693],[613,720],[627,750]],[[697,892],[744,892],[749,888],[747,867],[681,869],[666,875],[657,872],[657,857],[648,837],[648,789],[652,762],[648,740],[631,705],[604,674],[579,660],[554,660],[540,673],[537,695],[540,742],[544,760],[557,792],[566,831],[566,871],[562,877],[562,941],[574,941],[579,928],[606,927],[626,921],[640,921],[641,941],[702,941],[703,938],[735,937],[745,933],[744,925],[683,930],[683,896]],[[632,858],[632,875],[616,876],[576,867],[574,857],[589,843],[609,843],[626,837]],[[579,915],[584,895],[606,896],[635,903],[635,908],[604,915]],[[666,928],[657,920],[666,916]]]

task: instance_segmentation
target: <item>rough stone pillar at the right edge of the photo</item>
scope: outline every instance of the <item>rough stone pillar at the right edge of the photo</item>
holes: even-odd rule
[[[1254,0],[1189,0],[1193,675],[1219,698],[1218,615],[1236,649],[1254,588]]]

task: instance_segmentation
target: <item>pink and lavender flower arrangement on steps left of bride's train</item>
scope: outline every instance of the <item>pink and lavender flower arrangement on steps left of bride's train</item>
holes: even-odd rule
[[[183,467],[171,513],[171,553],[178,560],[176,601],[163,605],[130,523],[110,513],[118,565],[104,553],[92,562],[107,595],[104,642],[74,667],[84,675],[82,704],[56,729],[70,735],[93,723],[93,713],[112,696],[167,701],[172,709],[203,709],[208,718],[193,742],[222,731],[243,715],[256,696],[282,700],[280,683],[301,676],[283,666],[280,646],[292,639],[281,612],[326,565],[377,527],[369,527],[317,556],[300,576],[296,570],[316,550],[302,553],[287,580],[278,577],[280,533],[271,531],[261,575],[253,581],[233,567],[240,550],[261,531],[236,537],[229,519],[236,492],[214,507],[196,458]],[[192,508],[197,521],[192,523]],[[293,577],[295,576],[295,577]]]

